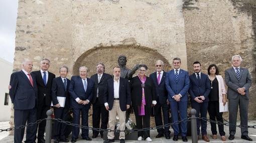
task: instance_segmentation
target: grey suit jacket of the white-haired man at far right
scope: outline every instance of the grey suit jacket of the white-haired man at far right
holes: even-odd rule
[[[239,93],[237,88],[245,87],[245,99],[249,99],[249,88],[251,86],[251,78],[247,68],[240,67],[240,79],[237,78],[233,67],[225,70],[225,82],[227,85],[227,97],[229,99],[235,99]]]

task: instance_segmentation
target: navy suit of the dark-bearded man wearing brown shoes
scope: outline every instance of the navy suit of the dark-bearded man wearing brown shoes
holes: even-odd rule
[[[208,108],[208,102],[209,98],[208,95],[211,90],[210,86],[210,80],[208,76],[201,72],[200,82],[197,80],[197,75],[195,73],[191,74],[189,76],[190,78],[190,88],[189,88],[189,94],[191,96],[191,105],[192,108],[196,109],[196,117],[205,117],[207,115],[207,108]],[[204,100],[201,103],[198,103],[194,100],[197,96],[204,96]],[[202,135],[207,134],[206,128],[207,128],[207,122],[205,120],[201,120],[201,132]],[[197,119],[197,135],[200,134],[200,122],[199,119]]]

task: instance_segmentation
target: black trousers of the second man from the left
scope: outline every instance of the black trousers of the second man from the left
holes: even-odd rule
[[[47,118],[46,112],[49,109],[50,109],[50,106],[48,106],[48,105],[45,105],[45,104],[38,105],[37,120]],[[46,120],[43,120],[42,122],[37,124],[37,129],[38,129],[37,138],[38,139],[44,138],[45,125],[46,125]]]

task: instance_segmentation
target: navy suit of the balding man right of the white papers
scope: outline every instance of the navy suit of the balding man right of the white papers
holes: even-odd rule
[[[83,81],[80,76],[72,76],[68,91],[70,93],[70,107],[73,111],[73,123],[80,124],[80,112],[82,112],[82,125],[88,126],[88,111],[90,102],[88,104],[79,104],[75,99],[79,97],[81,100],[92,101],[94,82],[87,78],[87,89],[85,91]],[[72,128],[72,138],[77,139],[79,135],[79,127]],[[88,129],[82,128],[82,137],[88,137]]]

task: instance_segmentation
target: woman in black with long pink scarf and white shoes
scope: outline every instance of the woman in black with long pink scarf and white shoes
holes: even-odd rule
[[[156,104],[155,88],[152,79],[146,76],[148,67],[145,64],[139,65],[139,74],[130,81],[132,106],[134,108],[136,125],[138,129],[150,127],[150,116],[152,105]],[[142,138],[151,142],[150,130],[138,131],[138,140]]]

